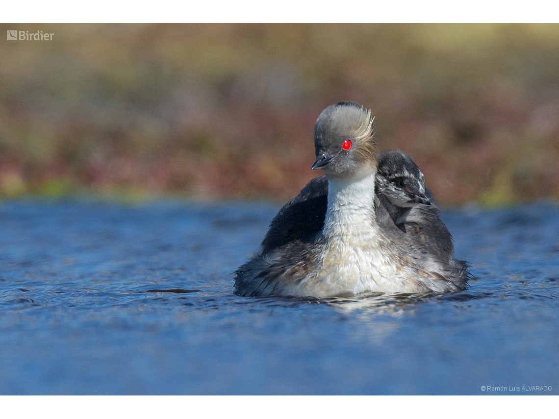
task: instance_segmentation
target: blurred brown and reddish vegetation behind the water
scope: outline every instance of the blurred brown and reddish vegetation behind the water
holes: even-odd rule
[[[0,196],[285,201],[331,103],[443,204],[559,198],[559,25],[23,25],[0,42]]]

